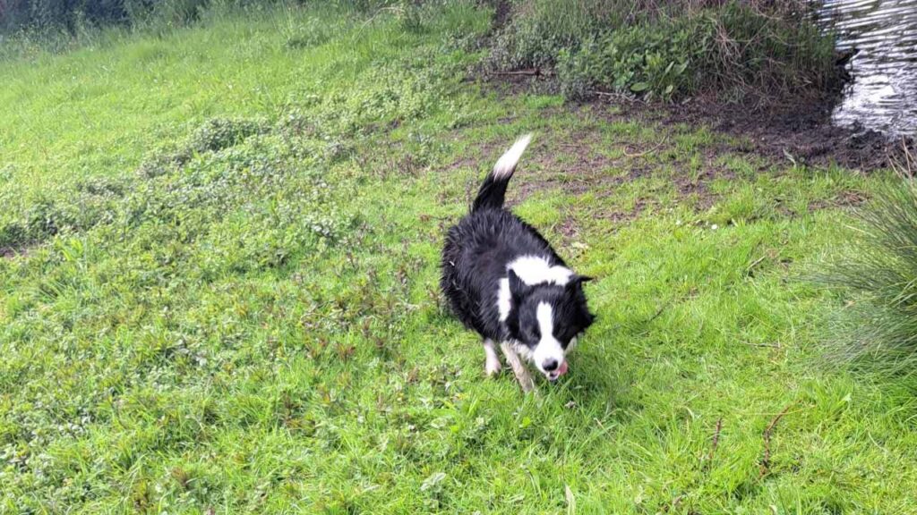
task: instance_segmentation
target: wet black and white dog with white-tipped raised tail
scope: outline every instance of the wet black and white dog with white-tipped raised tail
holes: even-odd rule
[[[528,146],[521,137],[487,176],[470,214],[449,229],[441,287],[452,309],[484,339],[488,376],[500,371],[495,343],[525,391],[534,388],[520,356],[551,381],[594,320],[582,283],[531,225],[503,209],[506,185]]]

